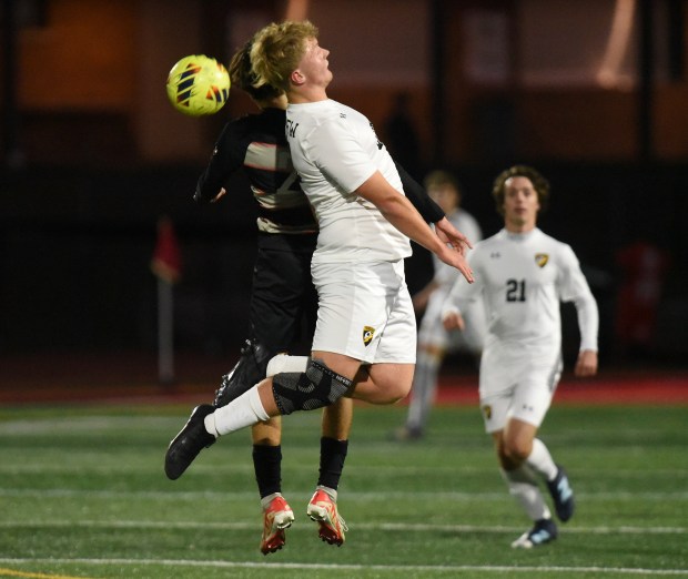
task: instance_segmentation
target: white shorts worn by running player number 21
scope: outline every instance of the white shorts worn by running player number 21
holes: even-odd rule
[[[539,428],[561,377],[561,355],[527,356],[523,352],[495,353],[480,359],[480,412],[485,430],[502,430],[510,418]]]

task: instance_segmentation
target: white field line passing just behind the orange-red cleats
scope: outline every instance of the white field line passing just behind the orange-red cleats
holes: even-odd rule
[[[152,520],[0,520],[0,529],[20,528],[83,528],[83,529],[208,529],[208,530],[246,530],[255,529],[260,526],[255,520],[233,521],[233,522],[204,522],[204,521],[152,521]],[[503,525],[431,525],[431,524],[406,524],[406,522],[357,522],[351,524],[352,529],[376,530],[376,531],[398,531],[398,532],[504,532],[514,534],[523,530],[523,526],[508,527]],[[291,530],[307,530],[311,526],[294,525]],[[686,535],[686,527],[567,527],[567,534],[581,535]]]

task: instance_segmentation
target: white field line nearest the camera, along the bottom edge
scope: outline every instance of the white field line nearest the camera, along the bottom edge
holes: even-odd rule
[[[259,563],[250,561],[193,561],[189,559],[9,559],[1,558],[2,565],[149,565],[158,567],[172,567],[174,573],[179,575],[179,567],[195,568],[219,568],[219,569],[265,569],[273,573],[275,569],[303,569],[304,571],[397,571],[399,573],[424,572],[424,573],[456,573],[461,571],[484,571],[484,572],[504,572],[504,573],[533,573],[533,572],[563,572],[563,573],[589,573],[598,577],[603,573],[627,573],[648,576],[678,576],[688,577],[686,569],[643,569],[633,567],[561,567],[561,566],[543,566],[543,567],[510,567],[502,565],[318,565],[318,563],[281,563],[275,561]],[[403,575],[402,575],[403,576]]]

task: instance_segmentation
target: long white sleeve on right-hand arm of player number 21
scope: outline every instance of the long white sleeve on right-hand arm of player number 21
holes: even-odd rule
[[[561,278],[559,280],[559,295],[563,302],[573,302],[578,314],[580,329],[580,349],[597,352],[597,335],[599,332],[599,311],[597,302],[590,292],[580,264],[574,251],[564,245],[561,251]]]

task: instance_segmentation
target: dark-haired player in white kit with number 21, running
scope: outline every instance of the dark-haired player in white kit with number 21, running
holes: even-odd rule
[[[576,376],[597,373],[599,315],[571,248],[536,226],[549,197],[547,181],[534,169],[516,165],[497,176],[493,195],[504,228],[476,244],[468,260],[476,282],[456,282],[443,318],[445,327],[462,328],[461,309],[477,296],[485,301],[480,409],[509,492],[533,520],[533,528],[512,546],[530,548],[557,537],[540,480],[561,521],[575,507],[565,470],[537,438],[561,373],[559,302],[573,302],[578,314]]]

